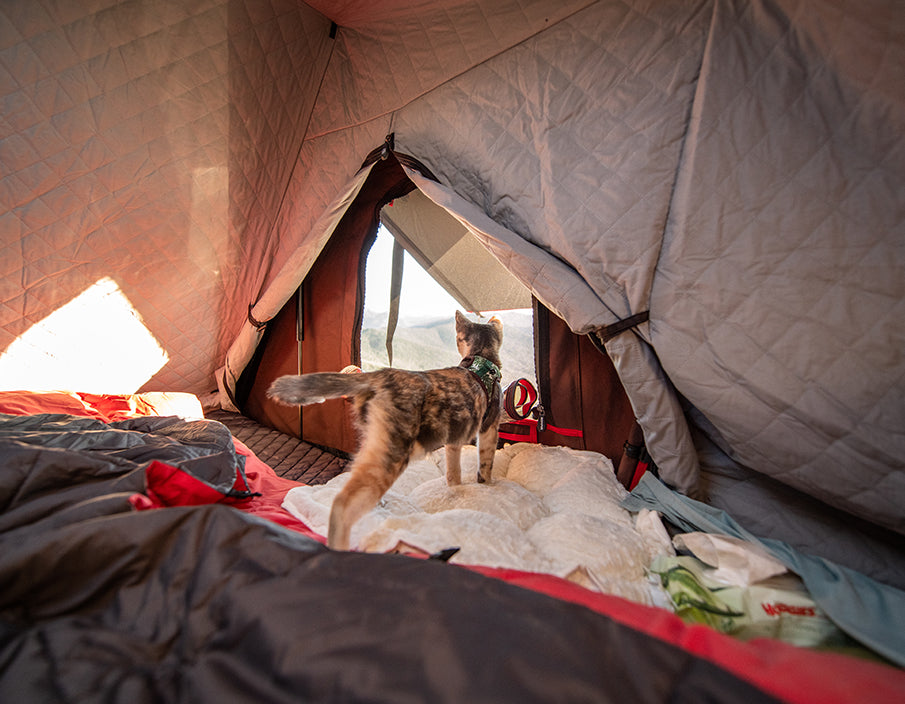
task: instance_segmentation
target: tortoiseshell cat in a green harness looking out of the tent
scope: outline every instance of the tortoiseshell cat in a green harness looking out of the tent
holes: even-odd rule
[[[503,324],[473,323],[456,311],[458,367],[425,372],[380,369],[362,374],[322,372],[283,376],[267,395],[304,406],[328,398],[354,401],[361,445],[351,476],[333,500],[327,546],[349,549],[353,524],[370,511],[409,461],[446,446],[446,481],[461,482],[462,445],[478,438],[478,481],[490,482],[500,422],[500,344]]]

